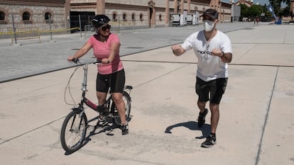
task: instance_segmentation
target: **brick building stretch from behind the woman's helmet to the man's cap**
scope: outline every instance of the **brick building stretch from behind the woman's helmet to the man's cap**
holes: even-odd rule
[[[167,26],[170,14],[202,14],[207,8],[219,11],[222,22],[231,21],[231,3],[220,0],[71,0],[71,16],[82,14],[89,17],[104,13],[111,18],[112,24],[121,26],[154,28]],[[87,16],[86,16],[87,18]],[[90,20],[90,19],[89,19]]]

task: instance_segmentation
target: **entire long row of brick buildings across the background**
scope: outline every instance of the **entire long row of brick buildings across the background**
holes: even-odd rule
[[[0,32],[9,32],[13,23],[54,30],[80,27],[80,21],[84,30],[97,13],[109,16],[114,28],[155,28],[170,25],[172,14],[199,18],[207,8],[217,9],[221,22],[231,21],[232,3],[221,0],[0,0]]]

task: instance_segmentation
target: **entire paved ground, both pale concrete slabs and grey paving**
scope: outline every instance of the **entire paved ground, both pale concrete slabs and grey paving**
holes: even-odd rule
[[[182,42],[201,26],[121,32],[126,84],[134,86],[130,134],[95,130],[90,141],[70,155],[65,155],[60,145],[60,127],[72,107],[65,104],[63,94],[74,69],[62,67],[71,66],[66,57],[85,39],[75,34],[63,40],[63,35],[54,37],[56,42],[5,47],[1,40],[1,162],[293,165],[294,26],[244,23],[246,28],[240,30],[241,25],[220,25],[232,40],[234,57],[221,104],[217,144],[210,149],[200,147],[209,134],[210,116],[202,129],[195,121],[197,59],[192,51],[175,57],[167,46]],[[133,42],[126,42],[128,38]],[[153,50],[146,51],[146,47]],[[57,71],[48,72],[51,69]],[[13,76],[3,70],[11,70]],[[48,73],[39,74],[44,71]],[[80,72],[71,81],[76,101],[80,98]],[[93,100],[95,72],[91,66],[87,96]],[[18,79],[32,73],[38,75]],[[66,98],[70,102],[68,93]],[[94,114],[89,110],[87,115]]]

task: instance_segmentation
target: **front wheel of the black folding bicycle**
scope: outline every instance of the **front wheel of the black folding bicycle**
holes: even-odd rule
[[[75,152],[82,147],[87,132],[87,117],[80,110],[73,110],[63,121],[60,141],[65,152]]]

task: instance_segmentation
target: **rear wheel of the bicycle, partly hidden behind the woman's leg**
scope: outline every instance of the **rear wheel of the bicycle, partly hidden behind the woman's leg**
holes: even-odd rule
[[[128,121],[131,114],[131,96],[129,96],[129,93],[126,93],[125,91],[123,91],[123,101],[126,109],[126,120]],[[114,122],[116,123],[116,125],[121,125],[119,111],[116,109],[114,102],[112,102],[111,104],[111,110],[113,110],[114,112]]]

